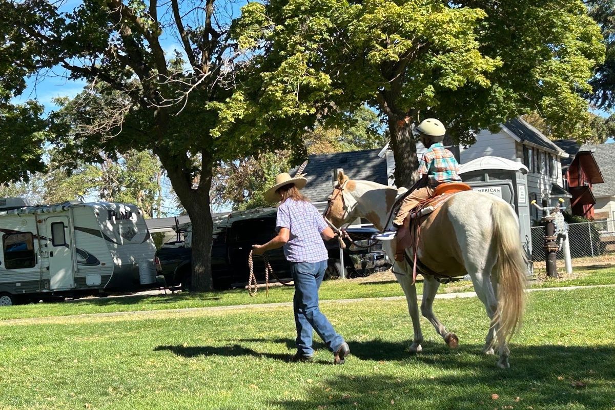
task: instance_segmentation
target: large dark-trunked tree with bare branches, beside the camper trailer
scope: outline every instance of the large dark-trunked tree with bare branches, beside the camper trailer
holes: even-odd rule
[[[69,137],[58,146],[85,162],[131,149],[159,157],[192,221],[196,290],[212,286],[216,162],[290,141],[274,139],[282,133],[257,138],[276,119],[233,94],[248,59],[229,36],[236,4],[214,2],[84,0],[63,12],[52,1],[6,0],[1,10],[10,22],[6,47],[28,52],[15,65],[31,74],[54,68],[46,73],[88,84],[53,116],[55,132]],[[230,130],[229,113],[250,122],[251,132]]]

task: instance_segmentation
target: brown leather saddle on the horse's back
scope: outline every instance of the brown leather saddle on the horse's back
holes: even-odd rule
[[[403,261],[407,248],[413,248],[416,254],[416,246],[420,234],[420,226],[424,218],[433,211],[442,207],[446,200],[458,192],[471,191],[472,188],[464,183],[442,183],[438,185],[431,197],[419,202],[403,221],[402,227],[397,230],[397,248],[395,250],[395,261]]]

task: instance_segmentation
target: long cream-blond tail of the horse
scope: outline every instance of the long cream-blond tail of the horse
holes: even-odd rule
[[[525,309],[526,258],[523,253],[519,226],[512,208],[496,200],[491,206],[493,239],[496,247],[494,274],[498,274],[498,309],[491,326],[499,324],[498,347],[509,341],[520,325]]]

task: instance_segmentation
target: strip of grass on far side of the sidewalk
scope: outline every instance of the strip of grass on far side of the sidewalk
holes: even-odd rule
[[[584,269],[584,270],[581,270]],[[538,280],[530,282],[531,287],[550,288],[573,285],[615,284],[615,268],[591,269],[588,267],[575,270],[572,277],[547,279],[544,274]],[[472,283],[461,281],[440,286],[438,293],[466,292],[474,290]],[[90,298],[74,302],[57,302],[28,304],[23,306],[3,307],[0,320],[15,318],[35,318],[82,313],[130,312],[133,310],[181,309],[186,307],[232,306],[242,304],[261,304],[292,301],[293,288],[274,286],[266,296],[264,289],[255,297],[248,296],[246,290],[231,290],[212,293],[183,293],[155,296],[127,296],[124,298]],[[421,294],[423,283],[417,283],[417,292]],[[386,296],[403,296],[402,288],[391,274],[377,274],[375,277],[352,280],[330,280],[322,284],[320,299],[355,299],[378,298]]]

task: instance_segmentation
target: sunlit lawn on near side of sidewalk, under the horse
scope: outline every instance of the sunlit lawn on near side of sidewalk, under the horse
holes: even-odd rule
[[[479,354],[488,323],[475,298],[435,302],[461,344],[449,350],[424,321],[418,356],[404,351],[405,301],[327,303],[323,311],[351,346],[346,365],[330,365],[321,344],[316,363],[287,363],[288,307],[0,322],[0,408],[615,408],[609,288],[530,294],[507,370]]]

